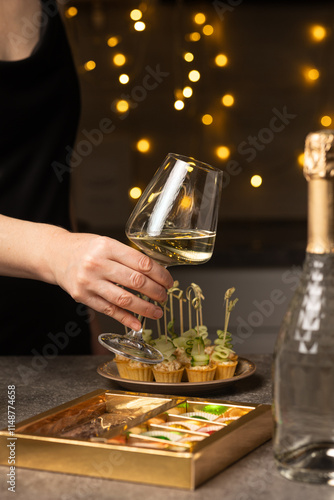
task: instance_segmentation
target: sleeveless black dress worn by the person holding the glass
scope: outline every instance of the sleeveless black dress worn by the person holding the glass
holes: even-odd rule
[[[0,61],[0,213],[71,229],[69,151],[80,92],[55,3],[42,6],[31,56]],[[66,167],[61,176],[55,165]],[[0,355],[85,354],[89,345],[88,312],[60,287],[0,277]]]

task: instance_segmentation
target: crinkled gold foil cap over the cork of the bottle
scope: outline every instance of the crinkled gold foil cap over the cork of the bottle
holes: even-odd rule
[[[334,130],[320,130],[306,136],[304,176],[307,180],[334,177]]]

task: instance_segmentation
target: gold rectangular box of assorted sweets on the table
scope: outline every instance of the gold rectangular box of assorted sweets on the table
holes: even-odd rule
[[[0,431],[0,463],[15,439],[18,467],[195,489],[271,434],[270,405],[100,389]]]

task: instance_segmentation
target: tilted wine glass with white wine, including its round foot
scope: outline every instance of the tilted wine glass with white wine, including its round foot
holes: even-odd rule
[[[131,213],[127,237],[165,267],[207,262],[215,244],[222,178],[222,170],[169,153]],[[103,333],[99,342],[143,363],[163,361],[160,351],[143,341],[142,329]]]

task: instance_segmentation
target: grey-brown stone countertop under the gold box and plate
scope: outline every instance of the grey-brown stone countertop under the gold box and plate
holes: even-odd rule
[[[248,355],[256,364],[249,378],[223,390],[207,394],[208,398],[249,403],[271,403],[270,355]],[[16,422],[75,399],[96,389],[121,389],[115,382],[101,377],[97,367],[109,356],[57,356],[46,360],[36,357],[1,357],[0,428],[7,426],[7,387],[15,385]],[[199,395],[203,397],[202,395]],[[8,467],[0,467],[0,497],[13,498],[7,490]],[[74,476],[28,469],[16,471],[17,500],[333,500],[330,486],[316,486],[288,481],[277,472],[271,441],[260,446],[195,491],[138,485],[108,479]]]

